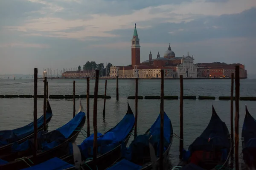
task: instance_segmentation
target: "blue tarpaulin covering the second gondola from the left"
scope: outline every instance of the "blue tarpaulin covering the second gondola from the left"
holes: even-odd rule
[[[72,120],[70,120],[70,122],[58,128],[57,130],[53,130],[49,133],[45,131],[38,132],[38,150],[49,150],[66,141],[66,139],[70,137],[74,130],[76,130],[84,117],[85,113],[79,112]],[[21,144],[17,144],[15,142],[12,145],[12,152],[15,153],[18,151],[27,150],[33,146],[33,142],[33,139],[26,140]]]

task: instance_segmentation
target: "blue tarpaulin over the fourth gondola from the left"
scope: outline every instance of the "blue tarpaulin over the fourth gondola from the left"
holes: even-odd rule
[[[151,126],[149,134],[143,134],[137,136],[128,147],[125,158],[132,162],[141,162],[146,156],[150,156],[149,142],[153,145],[155,153],[159,156],[160,148],[160,114],[156,121]],[[172,123],[169,117],[164,113],[164,151],[169,147],[172,142]],[[150,139],[149,139],[150,138]]]

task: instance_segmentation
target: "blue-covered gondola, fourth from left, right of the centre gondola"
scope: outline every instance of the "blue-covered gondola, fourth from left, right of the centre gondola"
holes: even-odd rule
[[[124,154],[107,170],[157,170],[159,166],[160,114],[145,134],[137,136]],[[164,169],[168,169],[169,150],[172,145],[173,128],[169,117],[164,113]]]

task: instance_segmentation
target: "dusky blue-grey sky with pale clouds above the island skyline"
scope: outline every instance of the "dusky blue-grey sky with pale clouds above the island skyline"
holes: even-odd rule
[[[189,51],[198,62],[256,65],[256,0],[0,0],[0,74],[38,74],[87,61],[131,64]]]

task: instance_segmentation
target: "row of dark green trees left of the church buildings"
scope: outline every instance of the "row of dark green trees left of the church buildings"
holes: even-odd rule
[[[81,65],[78,66],[77,71],[93,71],[93,70],[99,70],[99,75],[100,76],[109,76],[110,73],[110,67],[112,66],[112,64],[109,62],[107,67],[104,68],[104,64],[103,63],[99,63],[97,64],[95,61],[87,61],[83,67],[81,67]]]

